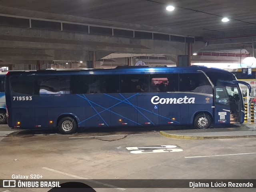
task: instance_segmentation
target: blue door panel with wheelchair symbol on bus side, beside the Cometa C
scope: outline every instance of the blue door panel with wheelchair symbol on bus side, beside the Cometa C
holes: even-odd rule
[[[137,125],[148,126],[158,125],[159,110],[158,105],[151,103],[152,97],[158,96],[156,94],[140,93],[137,95]]]

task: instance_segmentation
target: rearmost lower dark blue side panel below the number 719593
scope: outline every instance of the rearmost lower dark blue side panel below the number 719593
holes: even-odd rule
[[[35,110],[34,108],[12,108],[12,120],[12,122],[14,122],[14,127],[17,126],[17,128],[20,129],[34,129]],[[20,122],[20,125],[17,125],[17,122]]]

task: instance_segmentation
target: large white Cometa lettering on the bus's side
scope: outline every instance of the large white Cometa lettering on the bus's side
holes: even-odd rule
[[[183,98],[161,98],[158,96],[154,96],[151,98],[151,103],[154,105],[157,104],[182,104],[182,103],[195,103],[195,97],[188,98],[184,96]]]

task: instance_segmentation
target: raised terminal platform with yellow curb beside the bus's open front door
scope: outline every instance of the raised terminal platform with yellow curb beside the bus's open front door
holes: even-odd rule
[[[249,121],[232,127],[159,131],[160,135],[176,139],[234,139],[256,138],[256,123]]]

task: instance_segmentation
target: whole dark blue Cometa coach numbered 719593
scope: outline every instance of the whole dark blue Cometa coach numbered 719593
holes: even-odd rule
[[[9,71],[9,127],[189,125],[244,122],[239,83],[228,71],[202,66]]]

